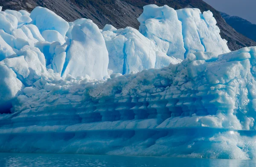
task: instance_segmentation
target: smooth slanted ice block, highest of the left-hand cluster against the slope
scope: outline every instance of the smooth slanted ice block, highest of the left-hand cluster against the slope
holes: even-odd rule
[[[55,30],[65,37],[69,28],[69,24],[64,19],[47,8],[39,6],[34,8],[30,17],[31,24],[36,25],[41,33],[45,30]]]

